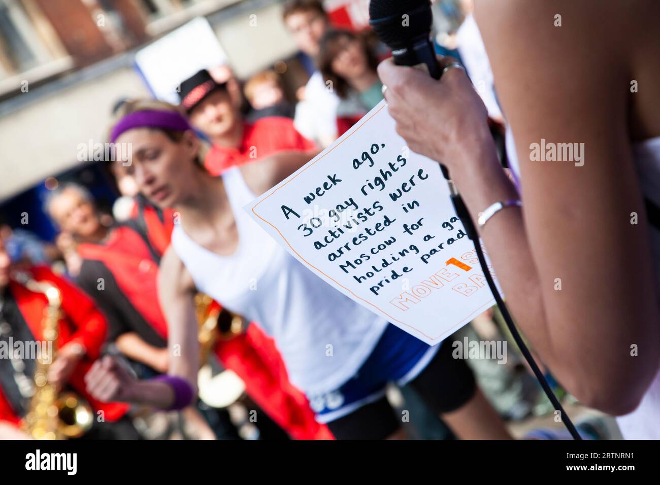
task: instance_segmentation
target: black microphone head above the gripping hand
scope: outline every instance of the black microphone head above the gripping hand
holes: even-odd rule
[[[369,17],[380,40],[393,51],[428,38],[433,24],[430,0],[371,0]]]

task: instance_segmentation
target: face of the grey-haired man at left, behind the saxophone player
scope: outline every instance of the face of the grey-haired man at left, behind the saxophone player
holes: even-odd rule
[[[51,203],[50,214],[63,232],[81,240],[94,240],[106,233],[94,204],[75,189],[64,189],[57,195]]]

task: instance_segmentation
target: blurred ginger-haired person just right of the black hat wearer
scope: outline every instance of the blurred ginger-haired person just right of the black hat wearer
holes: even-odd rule
[[[243,92],[253,110],[246,115],[248,123],[257,119],[280,116],[292,118],[294,108],[284,98],[279,75],[275,71],[263,71],[246,82]]]

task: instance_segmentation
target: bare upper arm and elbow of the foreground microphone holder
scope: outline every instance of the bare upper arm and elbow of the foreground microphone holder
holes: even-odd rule
[[[535,333],[547,340],[535,346],[547,342],[546,362],[558,377],[596,406],[618,403],[609,410],[626,412],[653,379],[660,354],[649,234],[626,127],[630,66],[624,43],[594,15],[598,9],[598,17],[616,18],[620,5],[574,4],[562,3],[562,27],[554,26],[557,5],[515,1],[502,9],[490,1],[477,13],[524,181],[528,249],[520,249],[536,267],[527,263],[522,274],[537,296],[525,301],[520,284],[510,294],[522,297],[516,306],[527,314],[543,300],[545,331]],[[541,139],[583,143],[583,160],[531,161],[529,147]],[[632,212],[640,214],[637,225]],[[515,243],[506,237],[513,227],[520,231],[515,240],[525,240],[521,222],[506,220],[515,216],[484,232],[502,256]],[[630,355],[633,344],[638,357]]]

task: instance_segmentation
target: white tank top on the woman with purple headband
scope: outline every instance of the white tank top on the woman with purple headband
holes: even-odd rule
[[[294,385],[308,395],[334,391],[357,373],[387,321],[304,267],[248,216],[243,207],[256,196],[238,168],[222,179],[238,230],[236,253],[217,255],[181,226],[172,247],[197,289],[275,339]]]

